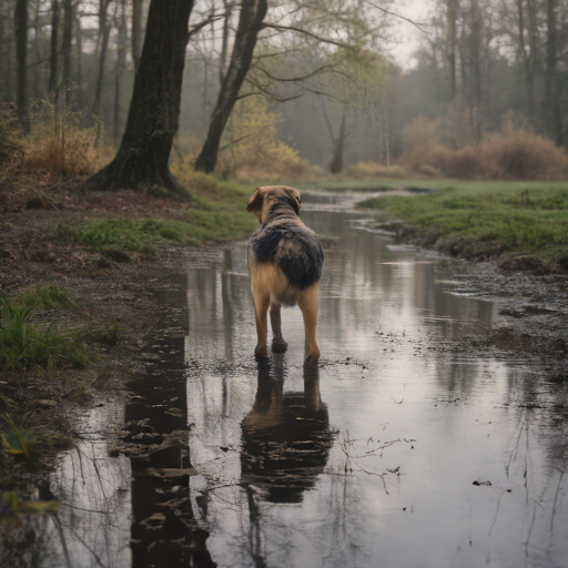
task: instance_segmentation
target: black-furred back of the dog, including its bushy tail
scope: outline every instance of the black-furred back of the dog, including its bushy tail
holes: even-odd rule
[[[248,247],[254,263],[273,264],[294,288],[304,290],[322,277],[322,244],[300,221],[276,219],[258,227]]]

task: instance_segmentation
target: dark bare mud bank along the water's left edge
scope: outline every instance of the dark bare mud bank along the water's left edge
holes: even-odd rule
[[[91,363],[85,368],[62,365],[0,373],[0,412],[32,442],[31,463],[2,456],[2,490],[38,486],[53,468],[54,455],[81,438],[78,424],[85,413],[110,403],[121,404],[128,383],[144,368],[144,345],[163,322],[179,318],[175,291],[184,290],[178,268],[183,254],[179,248],[163,250],[160,261],[115,264],[95,275],[50,274],[22,263],[2,273],[3,292],[40,283],[57,284],[69,294],[78,310],[63,315],[48,313],[48,325],[63,322],[89,331],[104,322],[114,333],[104,345],[88,345]],[[2,428],[6,430],[6,425]]]

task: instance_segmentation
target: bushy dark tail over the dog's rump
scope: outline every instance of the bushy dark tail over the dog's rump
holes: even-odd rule
[[[316,234],[302,227],[282,235],[274,262],[292,286],[304,290],[322,277],[324,252]]]

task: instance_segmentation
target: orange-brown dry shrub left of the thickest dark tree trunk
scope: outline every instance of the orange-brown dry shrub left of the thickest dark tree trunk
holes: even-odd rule
[[[32,130],[26,140],[24,169],[62,175],[93,173],[112,151],[104,146],[102,126],[81,128],[81,114],[65,106],[40,101],[31,116]]]

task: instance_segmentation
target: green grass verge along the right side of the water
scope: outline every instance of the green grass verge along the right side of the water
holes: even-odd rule
[[[387,216],[383,226],[450,254],[523,256],[568,270],[568,183],[413,182],[425,195],[357,204]],[[439,189],[439,187],[444,189]]]

